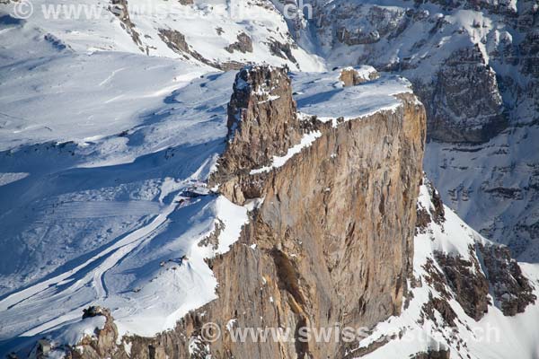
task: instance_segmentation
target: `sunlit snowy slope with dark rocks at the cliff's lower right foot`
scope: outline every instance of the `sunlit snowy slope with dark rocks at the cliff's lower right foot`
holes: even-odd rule
[[[523,298],[525,302],[527,295],[536,294],[533,285],[537,277],[533,269],[528,270],[531,266],[526,271],[523,267],[521,272],[517,262],[503,254],[508,253],[506,248],[482,238],[444,206],[427,178],[420,187],[418,213],[420,228],[414,240],[413,274],[402,315],[380,323],[363,341],[363,346],[353,349],[354,354],[359,354],[353,357],[361,357],[362,351],[378,338],[383,339],[384,346],[376,348],[376,357],[395,357],[395,353],[400,358],[487,357],[492,347],[508,342],[506,332],[510,336],[508,328],[515,321],[523,327],[519,328],[523,335],[518,334],[517,340],[523,337],[526,342],[519,346],[534,347],[536,337],[529,345],[524,338],[534,333],[533,324],[527,328],[524,324],[527,318],[535,323],[531,319],[537,310],[533,300],[522,303],[526,306],[525,314],[504,318],[504,314],[512,313],[496,299],[497,287],[503,288],[506,299]],[[437,213],[444,215],[435,221]],[[485,251],[490,254],[484,255]],[[510,269],[511,266],[515,269]],[[498,273],[490,276],[491,270]],[[516,302],[505,306],[518,307]],[[496,328],[495,333],[479,334],[488,328]],[[518,346],[508,345],[508,351],[501,356],[509,357],[515,347]]]

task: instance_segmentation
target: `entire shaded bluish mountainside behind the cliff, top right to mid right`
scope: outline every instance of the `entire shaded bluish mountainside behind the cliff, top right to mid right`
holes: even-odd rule
[[[313,1],[298,43],[328,66],[402,74],[428,112],[425,168],[448,206],[539,258],[539,4]]]

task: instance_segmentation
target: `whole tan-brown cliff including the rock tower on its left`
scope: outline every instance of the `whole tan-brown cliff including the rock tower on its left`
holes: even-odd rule
[[[299,119],[290,93],[283,69],[250,67],[236,76],[229,142],[211,182],[239,204],[258,197],[258,207],[240,240],[209,262],[218,299],[155,338],[124,337],[136,357],[344,357],[347,347],[338,341],[235,343],[225,328],[285,327],[297,337],[302,327],[337,322],[372,328],[401,312],[411,273],[423,107],[403,94],[398,109],[333,126]],[[272,169],[256,171],[314,133],[312,144],[280,167],[274,158]],[[200,336],[206,321],[222,328],[216,342]]]

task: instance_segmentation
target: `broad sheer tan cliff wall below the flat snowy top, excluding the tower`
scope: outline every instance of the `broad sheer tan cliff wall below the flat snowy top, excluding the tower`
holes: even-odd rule
[[[257,79],[260,76],[275,78],[280,74],[280,82],[286,81],[282,70],[268,72],[257,68],[254,72],[257,75],[251,75],[249,83],[253,90],[260,84]],[[238,76],[236,87],[243,83],[243,78],[242,74]],[[269,96],[279,93],[270,92]],[[289,101],[284,103],[286,109],[290,108]],[[219,289],[219,300],[210,304],[208,310],[214,315],[220,313],[223,324],[236,319],[243,326],[261,327],[280,322],[300,328],[324,327],[337,321],[343,325],[371,327],[400,312],[411,265],[412,228],[408,223],[415,221],[411,208],[417,196],[425,133],[422,107],[411,95],[403,97],[402,103],[402,108],[394,113],[377,113],[336,128],[308,121],[304,134],[307,131],[322,134],[314,144],[280,169],[264,175],[265,178],[246,174],[248,178],[240,180],[243,184],[261,183],[258,196],[264,202],[240,240],[241,244],[255,245],[256,249],[240,244],[233,250],[233,262],[214,265],[223,286]],[[260,135],[262,138],[273,136],[273,128],[280,127],[286,131],[280,138],[296,136],[296,120],[282,116],[288,115],[280,110],[282,104],[271,102],[269,108],[274,116],[268,119],[274,125],[270,133]],[[234,116],[234,111],[231,115]],[[259,121],[261,116],[256,111],[251,114],[248,111],[234,140],[244,138],[244,128],[252,128]],[[237,153],[234,140],[227,153]],[[271,153],[266,149],[257,151],[253,142],[250,156]],[[236,168],[236,158],[241,163],[241,152],[239,156],[227,153],[219,172]],[[253,164],[247,170],[260,167]],[[225,195],[233,200],[249,197],[249,189],[243,188],[243,196],[236,192]],[[258,267],[254,276],[244,268],[245,258],[252,258],[252,266]],[[239,282],[234,278],[238,274],[243,278]],[[255,278],[252,289],[256,300],[235,300],[238,292],[244,292],[246,283],[253,281],[250,276]],[[261,278],[265,278],[266,285]],[[223,317],[224,308],[228,311]],[[225,353],[227,343],[222,345]],[[231,346],[229,350],[237,357],[252,355],[243,346]],[[261,357],[278,357],[278,353],[285,357],[326,357],[341,350],[316,343],[279,348],[276,345],[274,354]]]

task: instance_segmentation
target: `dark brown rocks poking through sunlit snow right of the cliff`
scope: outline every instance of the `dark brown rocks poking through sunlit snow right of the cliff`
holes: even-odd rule
[[[429,181],[430,211],[418,208],[418,232],[427,232],[429,223],[443,227],[446,218],[444,205],[437,190]],[[427,316],[437,310],[451,326],[455,315],[450,313],[447,301],[454,298],[466,315],[473,320],[481,320],[496,305],[506,316],[525,311],[529,304],[535,303],[536,296],[530,281],[522,274],[515,259],[511,258],[507,247],[490,242],[476,241],[467,248],[467,258],[463,254],[446,253],[434,250],[433,257],[423,267],[428,274],[425,278],[442,298],[431,299],[424,311]],[[436,260],[436,263],[435,263]],[[490,302],[491,295],[494,302]]]

